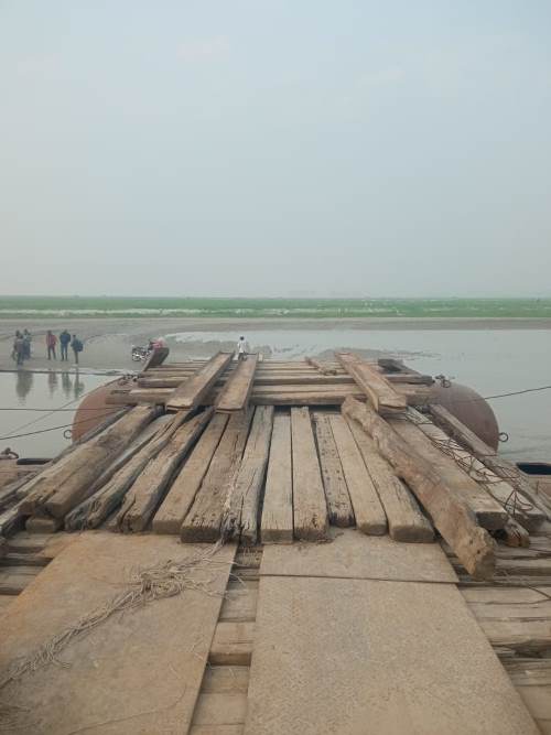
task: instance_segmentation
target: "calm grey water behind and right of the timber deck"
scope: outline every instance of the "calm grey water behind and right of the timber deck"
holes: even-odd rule
[[[233,349],[239,335],[183,332],[170,335],[194,356]],[[251,352],[272,359],[329,356],[333,350],[388,353],[429,375],[454,377],[482,396],[551,385],[549,329],[259,329],[246,335]],[[551,390],[489,401],[499,428],[509,434],[501,453],[519,461],[551,462]]]

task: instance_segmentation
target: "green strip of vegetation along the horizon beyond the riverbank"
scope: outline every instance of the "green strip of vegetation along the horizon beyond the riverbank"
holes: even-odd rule
[[[0,318],[193,317],[551,317],[551,299],[209,299],[0,296]]]

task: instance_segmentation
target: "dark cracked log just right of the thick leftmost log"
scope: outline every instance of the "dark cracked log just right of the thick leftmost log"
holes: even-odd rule
[[[65,529],[76,531],[85,528],[98,528],[118,508],[128,489],[138,479],[149,462],[166,446],[174,432],[188,417],[190,412],[180,411],[170,423],[161,425],[155,436],[115,473],[108,483],[67,514]]]

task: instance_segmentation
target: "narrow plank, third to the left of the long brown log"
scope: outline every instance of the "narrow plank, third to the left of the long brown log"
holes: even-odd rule
[[[312,418],[329,522],[341,528],[354,526],[354,510],[338,450],[333,437],[329,417],[326,413],[316,412]]]

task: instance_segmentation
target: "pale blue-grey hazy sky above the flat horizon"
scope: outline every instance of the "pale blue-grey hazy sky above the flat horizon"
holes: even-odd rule
[[[549,0],[0,0],[0,292],[551,295]]]

